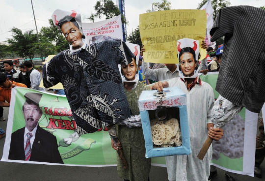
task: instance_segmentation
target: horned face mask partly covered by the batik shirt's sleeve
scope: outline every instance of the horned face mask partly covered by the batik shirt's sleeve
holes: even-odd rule
[[[130,48],[136,57],[136,60],[127,65],[118,65],[122,82],[137,82],[139,80],[138,62],[140,55],[140,46],[133,43],[126,42],[126,45]]]

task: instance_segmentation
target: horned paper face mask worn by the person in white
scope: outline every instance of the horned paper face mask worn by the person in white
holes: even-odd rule
[[[181,71],[181,78],[196,78],[198,76],[197,60],[199,57],[199,41],[184,38],[178,40],[178,58]]]

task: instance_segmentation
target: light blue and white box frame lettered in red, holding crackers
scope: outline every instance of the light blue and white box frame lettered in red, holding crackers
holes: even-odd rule
[[[155,112],[158,106],[156,103],[159,98],[153,95],[157,91],[142,91],[138,103],[145,140],[146,158],[188,155],[191,153],[186,95],[179,87],[164,88],[163,91],[166,92],[166,96],[162,99],[162,105],[166,107],[172,118],[180,121],[182,145],[179,147],[154,148],[150,120],[155,119]]]

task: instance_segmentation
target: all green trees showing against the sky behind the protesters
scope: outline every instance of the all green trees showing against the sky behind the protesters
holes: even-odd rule
[[[200,9],[208,0],[202,0],[197,9]],[[219,9],[231,5],[229,0],[212,0],[212,7],[214,10],[213,19],[217,16]],[[161,10],[170,10],[171,3],[168,0],[161,0],[161,2],[152,3],[153,9],[155,11]],[[261,7],[265,9],[265,7]],[[120,14],[119,8],[113,3],[112,0],[98,0],[94,6],[96,13],[91,13],[90,17],[85,17],[94,22],[95,18],[109,19]],[[151,12],[150,9],[147,9],[146,12]],[[125,20],[122,16],[122,23],[128,24],[129,22]],[[30,30],[23,33],[22,30],[13,27],[10,32],[12,32],[13,38],[8,38],[7,45],[0,45],[0,59],[6,57],[13,57],[14,55],[25,58],[28,57],[31,61],[35,55],[42,55],[43,57],[48,57],[48,55],[57,54],[63,50],[69,49],[68,42],[63,36],[61,30],[58,30],[53,25],[53,20],[49,19],[49,27],[42,27],[39,32],[38,42],[37,34]],[[127,39],[128,42],[138,44],[142,46],[140,31],[137,27],[133,30]],[[219,38],[216,44],[222,44],[223,39]]]

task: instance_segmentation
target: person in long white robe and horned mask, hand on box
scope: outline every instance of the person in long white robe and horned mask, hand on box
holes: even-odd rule
[[[202,44],[202,46],[207,48],[206,44]],[[208,136],[219,140],[223,135],[222,129],[213,129],[211,121],[210,113],[214,102],[212,87],[208,83],[202,82],[198,77],[198,71],[196,71],[198,47],[198,41],[179,40],[180,78],[174,78],[165,83],[158,82],[152,87],[154,90],[162,91],[165,87],[179,86],[187,98],[187,117],[192,152],[189,155],[165,157],[169,181],[207,181],[210,174],[212,149],[207,152],[203,161],[197,158],[197,154]]]

